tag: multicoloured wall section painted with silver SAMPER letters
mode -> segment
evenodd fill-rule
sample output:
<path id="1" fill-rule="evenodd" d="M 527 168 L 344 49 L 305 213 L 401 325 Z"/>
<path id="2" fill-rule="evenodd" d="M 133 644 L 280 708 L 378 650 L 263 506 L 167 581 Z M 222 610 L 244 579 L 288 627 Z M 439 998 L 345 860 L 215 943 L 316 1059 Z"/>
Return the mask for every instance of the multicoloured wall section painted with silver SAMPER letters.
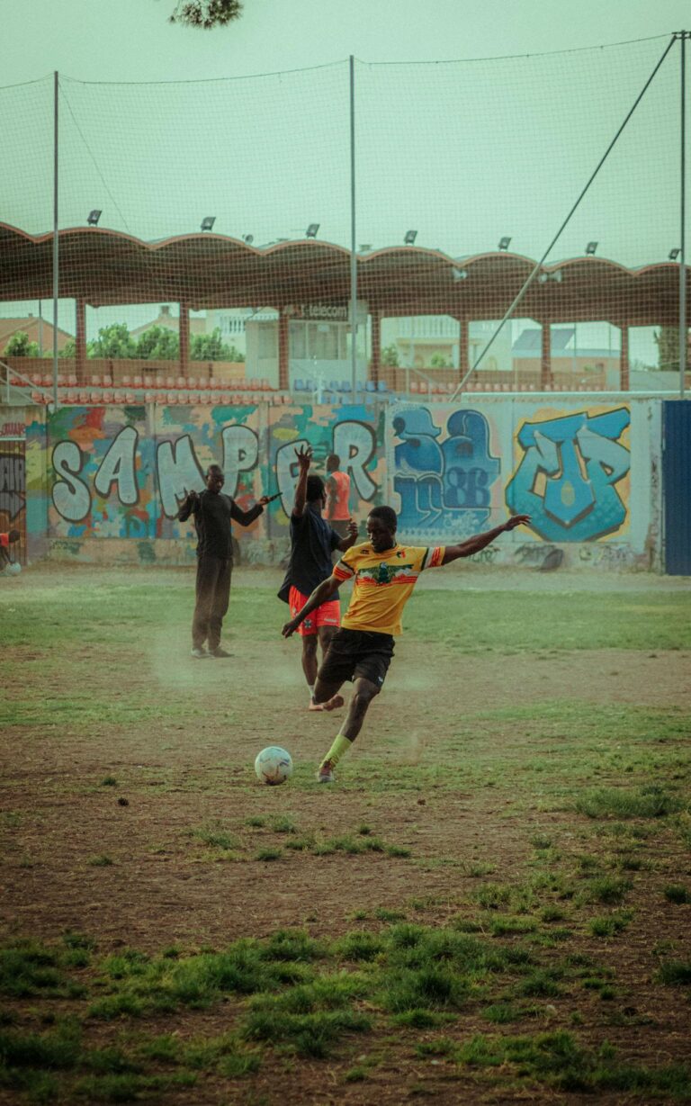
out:
<path id="1" fill-rule="evenodd" d="M 329 453 L 341 457 L 356 517 L 384 486 L 384 417 L 359 405 L 64 407 L 45 427 L 34 424 L 30 438 L 34 470 L 45 473 L 49 547 L 100 561 L 130 560 L 133 540 L 140 561 L 190 560 L 192 525 L 177 512 L 188 491 L 203 488 L 212 462 L 243 509 L 280 493 L 250 528 L 237 528 L 245 561 L 271 562 L 287 550 L 301 445 L 312 447 L 317 473 Z M 40 531 L 38 512 L 36 521 Z"/>

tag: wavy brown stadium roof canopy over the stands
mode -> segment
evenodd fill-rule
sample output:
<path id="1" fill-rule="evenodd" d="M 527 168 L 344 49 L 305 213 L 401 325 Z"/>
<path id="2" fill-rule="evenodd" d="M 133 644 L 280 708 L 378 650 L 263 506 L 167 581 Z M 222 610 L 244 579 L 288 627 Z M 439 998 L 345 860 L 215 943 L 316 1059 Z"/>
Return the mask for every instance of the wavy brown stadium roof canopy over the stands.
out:
<path id="1" fill-rule="evenodd" d="M 59 232 L 60 298 L 93 306 L 179 302 L 192 310 L 347 304 L 350 253 L 314 239 L 254 248 L 213 233 L 145 242 L 100 227 Z M 0 300 L 50 299 L 53 236 L 0 223 Z M 357 254 L 357 295 L 383 315 L 500 319 L 535 262 L 516 253 L 463 259 L 413 246 Z M 540 279 L 542 278 L 542 279 Z M 544 323 L 676 326 L 679 264 L 626 269 L 582 257 L 545 265 L 516 314 Z"/>

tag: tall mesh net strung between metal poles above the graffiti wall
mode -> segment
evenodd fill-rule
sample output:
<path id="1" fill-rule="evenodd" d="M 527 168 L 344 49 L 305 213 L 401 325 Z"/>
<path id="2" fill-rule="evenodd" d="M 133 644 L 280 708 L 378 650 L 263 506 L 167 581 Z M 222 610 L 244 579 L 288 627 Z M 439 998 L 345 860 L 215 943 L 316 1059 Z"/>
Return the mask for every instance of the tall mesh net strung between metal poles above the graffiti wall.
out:
<path id="1" fill-rule="evenodd" d="M 395 392 L 678 372 L 680 46 L 61 76 L 56 149 L 53 77 L 0 88 L 0 357 L 50 353 L 55 323 L 80 383 L 88 361 L 334 393 L 352 366 Z"/>

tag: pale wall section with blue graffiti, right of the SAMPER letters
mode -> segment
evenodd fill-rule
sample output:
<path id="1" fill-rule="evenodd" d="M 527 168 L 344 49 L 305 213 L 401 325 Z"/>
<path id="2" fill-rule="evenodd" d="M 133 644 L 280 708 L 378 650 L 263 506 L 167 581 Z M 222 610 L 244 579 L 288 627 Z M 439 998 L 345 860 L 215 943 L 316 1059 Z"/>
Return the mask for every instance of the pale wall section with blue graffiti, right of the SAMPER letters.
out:
<path id="1" fill-rule="evenodd" d="M 655 400 L 400 405 L 387 432 L 391 504 L 419 541 L 531 515 L 482 561 L 653 567 L 659 417 Z"/>

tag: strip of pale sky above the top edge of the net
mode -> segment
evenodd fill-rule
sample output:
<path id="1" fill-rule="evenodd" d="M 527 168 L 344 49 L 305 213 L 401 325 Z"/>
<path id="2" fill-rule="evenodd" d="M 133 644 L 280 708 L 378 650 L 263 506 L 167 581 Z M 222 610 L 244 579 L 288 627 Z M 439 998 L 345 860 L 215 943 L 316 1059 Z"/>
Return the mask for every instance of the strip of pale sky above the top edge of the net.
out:
<path id="1" fill-rule="evenodd" d="M 179 81 L 362 61 L 494 58 L 689 30 L 687 0 L 244 0 L 226 29 L 171 27 L 174 0 L 0 0 L 0 84 Z"/>

